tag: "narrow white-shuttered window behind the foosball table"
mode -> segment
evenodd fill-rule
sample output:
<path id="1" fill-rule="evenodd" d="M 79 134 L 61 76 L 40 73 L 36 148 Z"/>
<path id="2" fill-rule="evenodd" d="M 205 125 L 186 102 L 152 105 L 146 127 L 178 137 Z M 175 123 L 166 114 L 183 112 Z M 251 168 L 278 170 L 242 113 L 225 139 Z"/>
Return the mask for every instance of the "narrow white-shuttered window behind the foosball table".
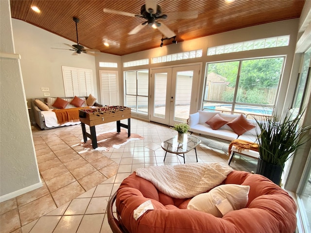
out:
<path id="1" fill-rule="evenodd" d="M 120 105 L 118 71 L 100 70 L 101 97 L 103 105 Z"/>

